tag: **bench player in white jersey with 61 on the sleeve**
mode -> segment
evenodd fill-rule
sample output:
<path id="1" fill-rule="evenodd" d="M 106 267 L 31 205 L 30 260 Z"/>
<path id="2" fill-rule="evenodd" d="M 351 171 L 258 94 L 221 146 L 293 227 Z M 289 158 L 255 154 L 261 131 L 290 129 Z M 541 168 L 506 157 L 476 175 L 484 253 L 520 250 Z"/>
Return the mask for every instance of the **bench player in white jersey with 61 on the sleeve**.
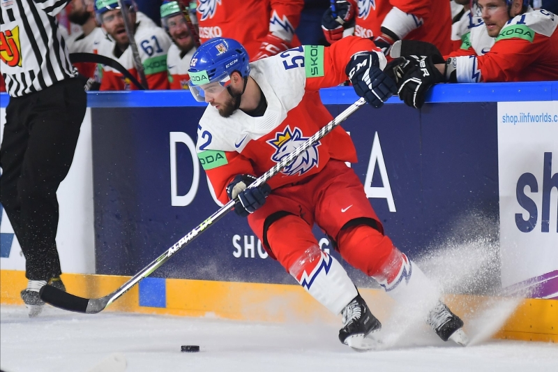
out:
<path id="1" fill-rule="evenodd" d="M 170 40 L 165 30 L 154 26 L 153 22 L 145 22 L 144 20 L 137 22 L 136 6 L 133 1 L 124 0 L 123 3 L 130 10 L 130 25 L 134 29 L 134 38 L 144 68 L 147 88 L 168 89 L 167 51 L 172 44 L 172 40 Z M 118 0 L 96 0 L 95 13 L 99 24 L 114 40 L 114 43 L 107 40 L 99 43 L 98 54 L 116 59 L 132 75 L 138 77 Z M 137 87 L 125 80 L 121 73 L 108 66 L 103 67 L 100 90 L 133 89 L 137 89 Z"/>

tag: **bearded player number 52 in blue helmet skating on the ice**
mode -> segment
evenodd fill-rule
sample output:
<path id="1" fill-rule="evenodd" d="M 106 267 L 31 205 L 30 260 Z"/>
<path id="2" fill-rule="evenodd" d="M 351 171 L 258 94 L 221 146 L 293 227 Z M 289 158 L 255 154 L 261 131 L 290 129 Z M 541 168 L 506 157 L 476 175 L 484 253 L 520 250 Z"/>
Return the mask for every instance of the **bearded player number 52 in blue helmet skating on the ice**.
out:
<path id="1" fill-rule="evenodd" d="M 202 161 L 215 194 L 223 203 L 237 200 L 234 211 L 248 216 L 271 258 L 329 311 L 342 314 L 342 343 L 371 348 L 366 337 L 382 325 L 345 269 L 319 249 L 314 223 L 332 237 L 344 260 L 375 278 L 389 295 L 415 307 L 425 305 L 425 318 L 444 341 L 465 342 L 463 322 L 384 235 L 359 177 L 345 165 L 356 161 L 356 150 L 341 127 L 268 184 L 247 188 L 331 121 L 320 88 L 338 85 L 348 75 L 359 96 L 381 107 L 395 92 L 382 72 L 385 64 L 371 40 L 355 36 L 332 47 L 296 47 L 252 64 L 235 40 L 209 40 L 195 52 L 188 70 L 193 95 L 210 104 L 199 121 L 198 157 L 217 159 Z"/>

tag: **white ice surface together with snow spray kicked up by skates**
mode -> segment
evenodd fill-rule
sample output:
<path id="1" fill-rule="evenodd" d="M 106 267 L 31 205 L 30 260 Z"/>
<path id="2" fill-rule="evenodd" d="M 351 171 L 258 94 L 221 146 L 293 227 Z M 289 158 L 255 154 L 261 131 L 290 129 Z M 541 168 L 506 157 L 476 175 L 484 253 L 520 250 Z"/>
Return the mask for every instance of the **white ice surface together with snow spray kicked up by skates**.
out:
<path id="1" fill-rule="evenodd" d="M 82 315 L 47 307 L 29 319 L 22 306 L 0 306 L 0 368 L 87 372 L 121 353 L 130 372 L 555 371 L 555 343 L 490 338 L 522 299 L 498 297 L 497 231 L 490 228 L 495 223 L 481 217 L 467 216 L 469 224 L 456 223 L 448 237 L 416 260 L 440 293 L 490 297 L 480 306 L 459 304 L 471 340 L 467 348 L 441 341 L 425 325 L 418 306 L 386 311 L 374 301 L 368 305 L 382 321 L 382 345 L 371 352 L 342 345 L 341 320 L 334 323 L 333 318 L 313 324 L 255 323 L 108 311 Z M 201 351 L 181 352 L 181 345 L 199 345 Z"/>

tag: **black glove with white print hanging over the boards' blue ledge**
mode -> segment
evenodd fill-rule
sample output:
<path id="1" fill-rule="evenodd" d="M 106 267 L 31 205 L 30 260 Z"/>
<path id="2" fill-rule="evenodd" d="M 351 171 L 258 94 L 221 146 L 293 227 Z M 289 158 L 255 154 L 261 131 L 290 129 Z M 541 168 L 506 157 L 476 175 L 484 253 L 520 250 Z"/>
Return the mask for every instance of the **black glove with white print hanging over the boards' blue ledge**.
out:
<path id="1" fill-rule="evenodd" d="M 384 71 L 395 80 L 400 100 L 405 101 L 407 106 L 421 108 L 428 89 L 445 81 L 442 73 L 434 66 L 439 63 L 445 61 L 437 55 L 399 57 L 389 62 Z"/>

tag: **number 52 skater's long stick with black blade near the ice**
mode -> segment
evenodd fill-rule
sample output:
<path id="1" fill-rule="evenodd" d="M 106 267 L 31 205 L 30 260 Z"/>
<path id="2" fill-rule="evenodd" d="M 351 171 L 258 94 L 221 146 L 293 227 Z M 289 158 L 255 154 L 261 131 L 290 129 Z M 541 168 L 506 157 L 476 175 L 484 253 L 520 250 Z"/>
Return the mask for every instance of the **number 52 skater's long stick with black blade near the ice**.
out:
<path id="1" fill-rule="evenodd" d="M 314 135 L 312 135 L 312 137 L 308 138 L 308 140 L 306 140 L 303 144 L 294 149 L 292 153 L 285 156 L 282 161 L 280 161 L 275 166 L 273 166 L 273 168 L 262 174 L 262 176 L 258 177 L 254 182 L 252 182 L 252 184 L 250 184 L 249 187 L 254 188 L 269 181 L 271 177 L 278 174 L 278 172 L 280 172 L 283 168 L 290 165 L 293 161 L 296 160 L 299 155 L 310 149 L 310 147 L 312 147 L 312 145 L 314 145 L 320 138 L 331 132 L 333 128 L 338 126 L 342 121 L 345 121 L 347 117 L 349 117 L 353 112 L 358 110 L 359 107 L 364 104 L 364 98 L 360 98 L 359 101 L 356 101 L 355 103 L 347 107 L 345 111 L 341 112 L 337 117 L 326 124 L 326 126 L 321 128 Z M 83 297 L 71 295 L 68 292 L 64 292 L 63 290 L 54 288 L 52 285 L 45 285 L 43 286 L 43 288 L 40 289 L 40 298 L 43 299 L 43 301 L 47 304 L 51 304 L 52 306 L 56 306 L 64 310 L 87 314 L 99 313 L 100 311 L 103 311 L 108 305 L 112 304 L 112 302 L 118 299 L 121 295 L 128 292 L 130 288 L 139 283 L 143 278 L 149 276 L 153 271 L 167 262 L 167 260 L 169 260 L 172 255 L 184 248 L 187 244 L 190 243 L 190 241 L 193 241 L 193 239 L 195 239 L 197 235 L 206 230 L 206 228 L 209 228 L 212 223 L 219 221 L 220 218 L 225 216 L 225 214 L 227 214 L 227 212 L 234 207 L 235 201 L 236 200 L 230 200 L 229 202 L 227 202 L 227 204 L 223 205 L 223 207 L 209 216 L 209 218 L 197 225 L 194 230 L 188 232 L 187 235 L 177 241 L 174 246 L 170 247 L 167 251 L 165 251 L 165 253 L 163 253 L 158 258 L 153 260 L 153 262 L 151 262 L 149 265 L 144 267 L 142 271 L 135 274 L 133 278 L 121 285 L 120 288 L 110 293 L 109 295 L 106 295 L 105 297 L 100 297 L 97 299 L 86 299 Z"/>

